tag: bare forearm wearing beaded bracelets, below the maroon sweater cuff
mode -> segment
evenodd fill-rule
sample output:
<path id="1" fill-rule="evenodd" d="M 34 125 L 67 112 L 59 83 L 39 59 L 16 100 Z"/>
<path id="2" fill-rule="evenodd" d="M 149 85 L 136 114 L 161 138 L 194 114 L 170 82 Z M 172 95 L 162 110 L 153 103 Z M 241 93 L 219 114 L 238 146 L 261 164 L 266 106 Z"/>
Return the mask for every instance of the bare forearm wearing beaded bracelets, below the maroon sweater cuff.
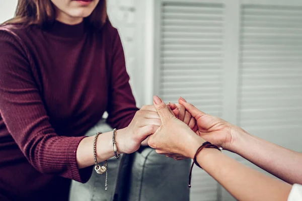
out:
<path id="1" fill-rule="evenodd" d="M 122 143 L 119 141 L 119 135 L 123 135 L 123 132 L 124 129 L 117 130 L 116 132 L 115 140 L 116 140 L 117 147 L 119 147 L 119 145 Z M 78 146 L 77 162 L 80 169 L 95 164 L 94 154 L 93 154 L 94 138 L 95 136 L 84 138 Z M 99 135 L 96 145 L 97 145 L 97 159 L 99 163 L 114 156 L 113 144 L 112 144 L 112 132 L 102 133 L 101 135 Z M 121 154 L 122 152 L 118 151 L 117 153 Z"/>

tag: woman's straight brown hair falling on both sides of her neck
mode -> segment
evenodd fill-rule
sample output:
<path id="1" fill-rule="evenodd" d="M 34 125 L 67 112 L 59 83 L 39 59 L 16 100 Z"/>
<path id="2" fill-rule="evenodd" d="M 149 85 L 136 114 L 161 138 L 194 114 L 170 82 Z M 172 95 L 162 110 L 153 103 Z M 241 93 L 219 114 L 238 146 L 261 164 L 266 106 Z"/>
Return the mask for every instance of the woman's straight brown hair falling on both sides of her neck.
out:
<path id="1" fill-rule="evenodd" d="M 44 26 L 55 20 L 54 5 L 50 0 L 18 0 L 15 17 L 3 25 Z M 101 28 L 107 20 L 106 0 L 100 0 L 92 14 L 85 19 L 95 28 Z"/>

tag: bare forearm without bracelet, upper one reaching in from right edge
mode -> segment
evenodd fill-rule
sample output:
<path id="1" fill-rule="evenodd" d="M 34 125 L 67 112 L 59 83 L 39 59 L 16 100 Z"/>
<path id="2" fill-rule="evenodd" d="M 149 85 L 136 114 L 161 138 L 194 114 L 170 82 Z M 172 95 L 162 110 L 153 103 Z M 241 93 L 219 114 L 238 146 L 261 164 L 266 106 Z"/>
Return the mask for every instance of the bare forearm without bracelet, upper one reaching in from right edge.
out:
<path id="1" fill-rule="evenodd" d="M 232 151 L 290 184 L 302 184 L 302 153 L 239 132 Z"/>

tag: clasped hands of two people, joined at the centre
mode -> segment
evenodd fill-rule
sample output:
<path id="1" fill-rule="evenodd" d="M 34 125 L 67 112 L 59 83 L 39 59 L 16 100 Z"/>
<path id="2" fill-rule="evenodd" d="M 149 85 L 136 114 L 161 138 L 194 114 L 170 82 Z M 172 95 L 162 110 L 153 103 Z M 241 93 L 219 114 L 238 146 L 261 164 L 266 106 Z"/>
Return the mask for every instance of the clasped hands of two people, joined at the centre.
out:
<path id="1" fill-rule="evenodd" d="M 140 145 L 149 145 L 159 154 L 176 160 L 193 158 L 205 141 L 233 151 L 241 128 L 220 118 L 205 114 L 182 97 L 178 104 L 167 104 L 154 96 L 154 106 L 143 106 L 125 128 L 124 153 L 136 151 Z"/>

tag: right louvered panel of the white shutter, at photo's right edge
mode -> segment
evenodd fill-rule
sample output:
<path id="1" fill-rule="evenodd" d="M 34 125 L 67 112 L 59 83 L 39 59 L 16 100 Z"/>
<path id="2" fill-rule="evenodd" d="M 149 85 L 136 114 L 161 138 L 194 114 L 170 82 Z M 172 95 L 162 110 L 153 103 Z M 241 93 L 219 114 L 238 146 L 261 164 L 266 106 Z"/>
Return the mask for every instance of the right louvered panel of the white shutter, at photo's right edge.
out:
<path id="1" fill-rule="evenodd" d="M 237 124 L 302 152 L 302 1 L 243 2 L 238 88 Z M 222 195 L 235 200 L 226 191 Z"/>

